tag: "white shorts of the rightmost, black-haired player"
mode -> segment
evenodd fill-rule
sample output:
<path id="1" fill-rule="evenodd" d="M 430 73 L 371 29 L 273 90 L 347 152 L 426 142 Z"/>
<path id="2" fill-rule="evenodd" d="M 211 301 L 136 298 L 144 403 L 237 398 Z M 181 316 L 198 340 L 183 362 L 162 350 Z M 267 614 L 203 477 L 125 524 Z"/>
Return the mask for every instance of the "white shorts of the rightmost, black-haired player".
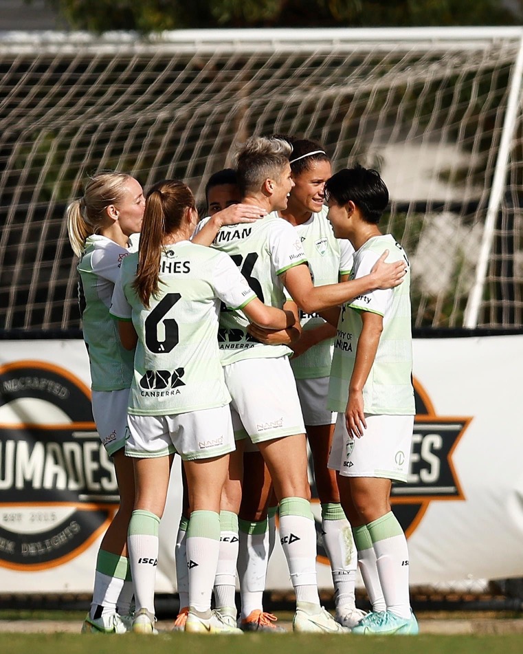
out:
<path id="1" fill-rule="evenodd" d="M 343 477 L 379 477 L 407 481 L 413 415 L 365 414 L 361 438 L 350 438 L 345 414 L 338 413 L 328 467 Z"/>

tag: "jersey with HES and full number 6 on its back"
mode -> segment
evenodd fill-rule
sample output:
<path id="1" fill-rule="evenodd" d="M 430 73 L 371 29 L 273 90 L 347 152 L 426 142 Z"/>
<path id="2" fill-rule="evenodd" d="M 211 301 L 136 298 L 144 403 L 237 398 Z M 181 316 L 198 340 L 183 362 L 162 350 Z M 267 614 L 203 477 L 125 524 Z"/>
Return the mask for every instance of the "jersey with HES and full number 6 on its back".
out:
<path id="1" fill-rule="evenodd" d="M 165 246 L 159 294 L 146 309 L 133 288 L 138 255 L 122 265 L 111 314 L 138 334 L 129 413 L 173 415 L 231 400 L 218 348 L 220 301 L 241 309 L 256 294 L 223 252 L 181 241 Z"/>

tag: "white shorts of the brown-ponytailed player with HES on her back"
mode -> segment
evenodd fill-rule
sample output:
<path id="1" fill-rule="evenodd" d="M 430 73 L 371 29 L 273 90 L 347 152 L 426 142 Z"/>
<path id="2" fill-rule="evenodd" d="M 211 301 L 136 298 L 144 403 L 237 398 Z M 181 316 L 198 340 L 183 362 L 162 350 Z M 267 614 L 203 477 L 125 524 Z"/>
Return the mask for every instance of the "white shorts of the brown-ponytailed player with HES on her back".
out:
<path id="1" fill-rule="evenodd" d="M 125 454 L 153 459 L 178 453 L 184 461 L 221 457 L 234 451 L 228 404 L 172 415 L 129 415 Z"/>

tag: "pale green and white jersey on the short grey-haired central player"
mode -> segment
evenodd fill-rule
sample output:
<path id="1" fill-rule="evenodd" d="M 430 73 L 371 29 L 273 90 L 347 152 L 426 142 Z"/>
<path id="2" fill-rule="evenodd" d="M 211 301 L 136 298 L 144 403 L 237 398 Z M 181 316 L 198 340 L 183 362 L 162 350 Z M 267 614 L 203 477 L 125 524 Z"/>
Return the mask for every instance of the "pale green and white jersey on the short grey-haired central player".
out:
<path id="1" fill-rule="evenodd" d="M 208 221 L 204 219 L 198 232 Z M 278 275 L 300 263 L 307 263 L 300 238 L 276 212 L 243 225 L 222 227 L 212 248 L 227 252 L 241 270 L 249 286 L 269 307 L 281 309 L 286 298 Z M 221 362 L 224 366 L 247 358 L 288 356 L 287 345 L 264 345 L 247 334 L 249 320 L 240 311 L 222 307 L 218 332 Z"/>

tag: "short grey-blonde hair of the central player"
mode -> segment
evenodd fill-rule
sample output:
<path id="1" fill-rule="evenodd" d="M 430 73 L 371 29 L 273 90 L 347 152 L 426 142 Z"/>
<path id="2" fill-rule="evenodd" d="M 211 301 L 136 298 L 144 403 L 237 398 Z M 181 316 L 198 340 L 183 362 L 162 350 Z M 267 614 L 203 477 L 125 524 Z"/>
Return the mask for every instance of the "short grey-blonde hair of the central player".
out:
<path id="1" fill-rule="evenodd" d="M 248 138 L 235 157 L 240 193 L 257 193 L 265 179 L 278 178 L 282 168 L 289 163 L 291 152 L 291 144 L 281 138 Z"/>

